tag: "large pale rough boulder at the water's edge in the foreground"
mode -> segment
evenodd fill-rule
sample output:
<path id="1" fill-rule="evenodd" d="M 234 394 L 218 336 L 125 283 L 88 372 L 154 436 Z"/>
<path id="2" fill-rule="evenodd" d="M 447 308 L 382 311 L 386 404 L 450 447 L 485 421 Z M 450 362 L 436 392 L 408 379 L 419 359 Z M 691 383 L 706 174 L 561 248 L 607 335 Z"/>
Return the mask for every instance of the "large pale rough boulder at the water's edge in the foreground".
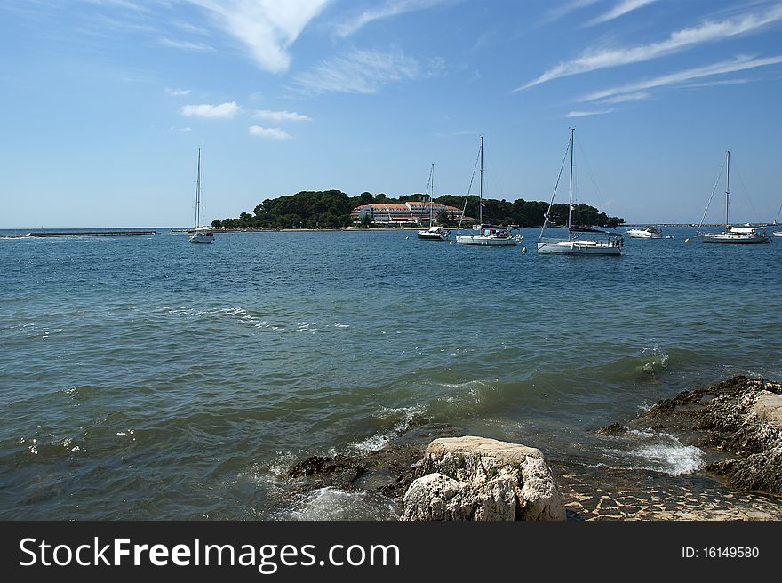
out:
<path id="1" fill-rule="evenodd" d="M 564 520 L 562 494 L 543 453 L 484 437 L 429 443 L 402 520 Z"/>

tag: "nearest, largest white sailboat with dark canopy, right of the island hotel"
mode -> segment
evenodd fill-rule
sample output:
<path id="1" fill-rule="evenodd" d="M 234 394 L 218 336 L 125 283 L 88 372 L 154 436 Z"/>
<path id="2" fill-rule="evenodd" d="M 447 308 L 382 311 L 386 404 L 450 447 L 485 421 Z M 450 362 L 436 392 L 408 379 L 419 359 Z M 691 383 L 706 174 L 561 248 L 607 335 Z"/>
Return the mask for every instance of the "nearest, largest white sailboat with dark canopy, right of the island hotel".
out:
<path id="1" fill-rule="evenodd" d="M 567 239 L 553 239 L 544 238 L 548 225 L 548 218 L 551 215 L 551 207 L 554 204 L 554 197 L 556 195 L 556 187 L 554 188 L 554 194 L 551 196 L 551 202 L 548 204 L 548 210 L 546 212 L 546 218 L 543 220 L 543 228 L 540 229 L 540 236 L 538 238 L 538 252 L 539 253 L 554 253 L 558 255 L 621 255 L 622 254 L 622 235 L 621 233 L 613 233 L 611 231 L 603 231 L 598 228 L 579 227 L 573 225 L 573 147 L 574 139 L 576 135 L 575 128 L 571 128 L 571 139 L 568 141 L 568 150 L 565 151 L 567 156 L 568 151 L 571 154 L 571 189 L 570 200 L 568 202 L 568 238 Z M 563 165 L 565 160 L 563 159 Z M 562 176 L 562 169 L 560 169 L 560 176 Z M 557 178 L 557 186 L 559 186 L 559 179 Z M 597 238 L 587 238 L 589 235 L 598 235 Z M 586 236 L 585 236 L 586 235 Z"/>

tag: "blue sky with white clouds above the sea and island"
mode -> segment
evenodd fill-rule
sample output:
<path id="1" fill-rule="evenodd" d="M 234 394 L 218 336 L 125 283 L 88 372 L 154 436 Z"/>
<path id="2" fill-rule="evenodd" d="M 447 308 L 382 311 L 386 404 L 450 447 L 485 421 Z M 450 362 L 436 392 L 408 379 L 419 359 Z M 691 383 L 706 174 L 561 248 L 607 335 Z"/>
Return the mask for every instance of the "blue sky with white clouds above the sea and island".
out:
<path id="1" fill-rule="evenodd" d="M 175 227 L 339 188 L 698 222 L 782 204 L 782 2 L 4 0 L 0 228 Z M 724 173 L 706 221 L 722 220 Z M 475 192 L 475 187 L 473 188 Z M 567 193 L 557 194 L 557 200 Z"/>

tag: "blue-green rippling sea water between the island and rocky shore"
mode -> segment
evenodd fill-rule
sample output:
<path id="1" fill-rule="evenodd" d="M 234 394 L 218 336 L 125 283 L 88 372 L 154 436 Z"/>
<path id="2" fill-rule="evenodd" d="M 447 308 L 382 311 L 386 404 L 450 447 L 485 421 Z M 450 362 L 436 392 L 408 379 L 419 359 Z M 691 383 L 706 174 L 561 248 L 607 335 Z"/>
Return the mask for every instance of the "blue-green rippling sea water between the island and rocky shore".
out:
<path id="1" fill-rule="evenodd" d="M 289 496 L 287 471 L 423 423 L 571 473 L 702 481 L 708 452 L 678 435 L 595 429 L 736 374 L 782 380 L 782 239 L 675 227 L 558 257 L 538 229 L 505 248 L 151 230 L 0 238 L 0 519 L 395 520 L 360 491 Z"/>

